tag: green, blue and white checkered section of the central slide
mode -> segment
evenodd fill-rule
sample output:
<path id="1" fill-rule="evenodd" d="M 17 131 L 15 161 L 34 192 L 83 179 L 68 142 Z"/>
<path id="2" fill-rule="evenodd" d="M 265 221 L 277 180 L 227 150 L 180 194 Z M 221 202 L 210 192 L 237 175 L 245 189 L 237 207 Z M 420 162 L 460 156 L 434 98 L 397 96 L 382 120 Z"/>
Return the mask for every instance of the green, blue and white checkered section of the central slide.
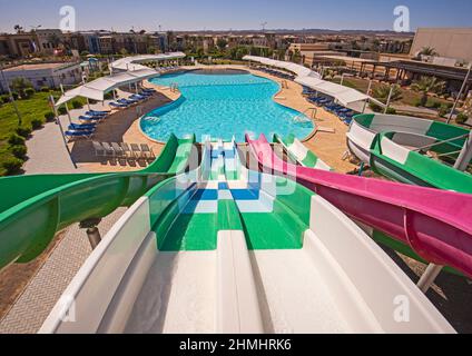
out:
<path id="1" fill-rule="evenodd" d="M 246 169 L 236 146 L 222 145 L 203 159 L 200 174 L 209 180 L 195 177 L 179 188 L 175 177 L 146 195 L 159 250 L 215 250 L 223 230 L 243 230 L 249 250 L 302 248 L 314 194 L 289 179 Z"/>

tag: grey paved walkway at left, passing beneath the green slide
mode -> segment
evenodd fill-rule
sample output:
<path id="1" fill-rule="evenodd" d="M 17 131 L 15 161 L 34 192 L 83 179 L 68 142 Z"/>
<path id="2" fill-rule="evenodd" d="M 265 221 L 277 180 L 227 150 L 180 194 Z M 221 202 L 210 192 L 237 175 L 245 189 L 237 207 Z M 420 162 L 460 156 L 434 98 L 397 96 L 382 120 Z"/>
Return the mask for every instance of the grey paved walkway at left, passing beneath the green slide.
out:
<path id="1" fill-rule="evenodd" d="M 101 103 L 92 105 L 95 110 L 108 109 Z M 79 110 L 71 110 L 72 118 L 85 113 L 87 106 Z M 62 129 L 69 126 L 69 117 L 61 116 Z M 76 168 L 63 141 L 61 129 L 57 122 L 48 122 L 40 130 L 33 131 L 27 141 L 28 161 L 23 166 L 27 175 L 37 174 L 77 174 L 86 172 L 83 168 Z M 99 225 L 102 236 L 126 211 L 119 208 Z M 0 334 L 31 334 L 37 333 L 50 310 L 70 284 L 83 261 L 91 253 L 85 230 L 75 224 L 65 230 L 65 237 L 52 250 L 51 255 L 29 281 L 12 308 L 0 320 Z"/>

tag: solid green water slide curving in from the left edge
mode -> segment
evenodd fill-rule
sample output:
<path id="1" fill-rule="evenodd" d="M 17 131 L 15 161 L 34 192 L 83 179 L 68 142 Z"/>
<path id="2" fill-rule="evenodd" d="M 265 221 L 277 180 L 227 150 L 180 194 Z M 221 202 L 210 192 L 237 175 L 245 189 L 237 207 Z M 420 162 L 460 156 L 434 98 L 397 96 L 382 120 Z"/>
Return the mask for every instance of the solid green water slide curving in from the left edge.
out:
<path id="1" fill-rule="evenodd" d="M 146 169 L 119 174 L 33 175 L 0 179 L 0 268 L 28 263 L 57 231 L 129 207 L 188 166 L 195 136 L 170 136 Z"/>

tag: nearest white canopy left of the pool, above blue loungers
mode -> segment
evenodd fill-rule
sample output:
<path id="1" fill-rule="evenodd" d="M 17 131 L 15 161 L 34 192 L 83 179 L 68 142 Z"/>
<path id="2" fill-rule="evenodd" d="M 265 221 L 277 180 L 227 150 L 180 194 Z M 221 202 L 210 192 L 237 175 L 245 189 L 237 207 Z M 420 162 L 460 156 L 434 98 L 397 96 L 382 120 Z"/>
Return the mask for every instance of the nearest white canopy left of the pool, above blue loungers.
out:
<path id="1" fill-rule="evenodd" d="M 127 86 L 134 82 L 142 81 L 145 79 L 156 77 L 159 73 L 153 69 L 145 67 L 146 69 L 127 71 L 122 73 L 117 73 L 114 76 L 98 78 L 94 81 L 85 83 L 78 88 L 66 91 L 63 96 L 56 102 L 56 107 L 61 106 L 62 103 L 72 100 L 77 97 L 89 98 L 97 101 L 102 101 L 107 92 L 119 88 L 121 86 Z"/>

